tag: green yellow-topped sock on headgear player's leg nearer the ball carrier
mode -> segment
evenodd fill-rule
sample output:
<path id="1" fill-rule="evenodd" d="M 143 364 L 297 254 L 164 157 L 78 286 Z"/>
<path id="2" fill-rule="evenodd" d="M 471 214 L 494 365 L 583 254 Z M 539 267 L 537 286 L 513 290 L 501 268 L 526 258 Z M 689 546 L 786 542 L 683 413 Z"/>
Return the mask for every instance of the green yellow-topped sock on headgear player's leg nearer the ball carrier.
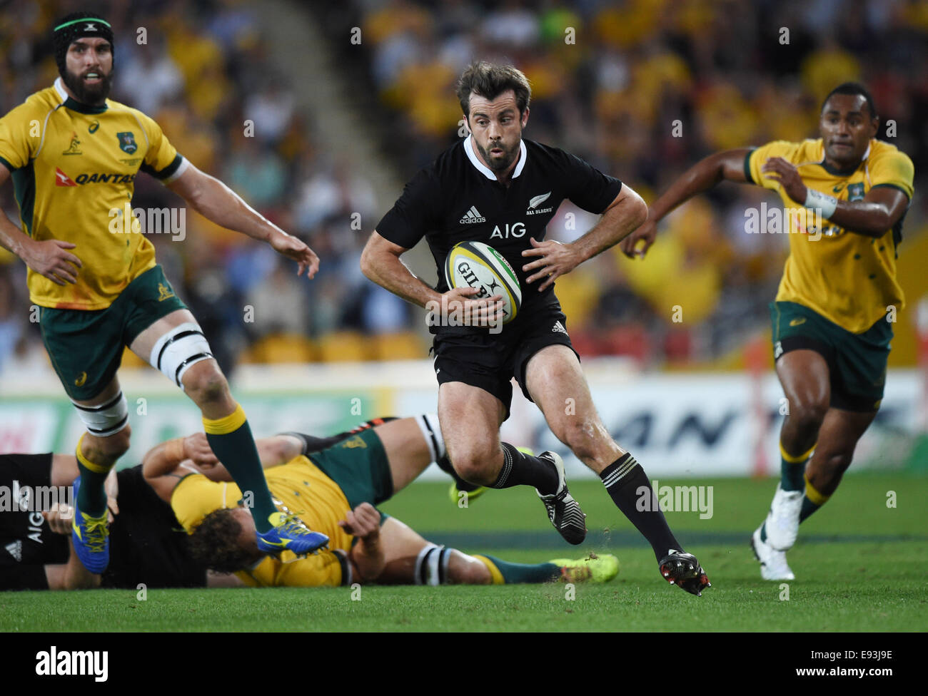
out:
<path id="1" fill-rule="evenodd" d="M 251 427 L 245 420 L 245 411 L 238 406 L 238 409 L 226 418 L 214 421 L 204 418 L 203 426 L 213 453 L 235 479 L 242 495 L 251 493 L 251 516 L 254 518 L 254 526 L 259 532 L 266 532 L 271 528 L 267 518 L 277 513 L 277 508 L 271 500 L 271 492 L 267 489 L 264 469 L 261 467 L 254 438 L 251 437 Z"/>

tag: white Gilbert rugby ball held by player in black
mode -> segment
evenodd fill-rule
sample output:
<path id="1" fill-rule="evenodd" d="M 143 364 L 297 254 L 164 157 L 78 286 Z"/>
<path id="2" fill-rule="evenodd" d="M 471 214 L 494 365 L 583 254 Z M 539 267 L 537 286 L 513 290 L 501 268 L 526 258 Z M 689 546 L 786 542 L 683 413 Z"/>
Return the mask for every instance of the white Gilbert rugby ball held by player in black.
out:
<path id="1" fill-rule="evenodd" d="M 476 287 L 471 299 L 503 297 L 503 323 L 515 319 L 522 306 L 522 287 L 509 261 L 483 242 L 460 242 L 445 259 L 445 283 L 449 288 Z"/>

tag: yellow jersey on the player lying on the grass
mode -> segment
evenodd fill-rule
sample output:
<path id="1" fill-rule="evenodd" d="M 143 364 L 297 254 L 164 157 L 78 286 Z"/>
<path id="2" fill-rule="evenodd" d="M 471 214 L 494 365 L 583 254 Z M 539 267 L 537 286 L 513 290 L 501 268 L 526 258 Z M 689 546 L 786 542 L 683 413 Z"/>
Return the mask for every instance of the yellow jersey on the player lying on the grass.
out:
<path id="1" fill-rule="evenodd" d="M 354 538 L 338 525 L 351 509 L 342 488 L 303 455 L 266 469 L 264 475 L 277 507 L 297 514 L 314 532 L 328 535 L 329 550 L 299 561 L 293 560 L 293 553 L 284 551 L 279 560 L 268 556 L 251 570 L 236 575 L 251 587 L 341 585 L 343 556 L 333 551 L 340 549 L 347 553 Z M 236 508 L 239 500 L 241 490 L 235 483 L 211 481 L 204 475 L 193 474 L 174 488 L 171 507 L 189 534 L 206 515 L 222 508 Z"/>

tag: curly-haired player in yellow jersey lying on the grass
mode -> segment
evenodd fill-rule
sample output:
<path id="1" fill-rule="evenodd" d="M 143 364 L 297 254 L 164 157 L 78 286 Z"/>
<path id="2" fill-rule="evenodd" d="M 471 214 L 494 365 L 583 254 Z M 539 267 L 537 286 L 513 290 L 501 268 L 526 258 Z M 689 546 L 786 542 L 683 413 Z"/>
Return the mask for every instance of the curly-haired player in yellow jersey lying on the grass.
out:
<path id="1" fill-rule="evenodd" d="M 501 584 L 558 577 L 604 582 L 618 573 L 618 559 L 608 554 L 532 564 L 470 556 L 436 546 L 399 520 L 381 516 L 374 505 L 390 499 L 430 462 L 445 456 L 435 415 L 394 419 L 342 437 L 317 451 L 324 440 L 296 433 L 258 440 L 277 504 L 331 539 L 330 550 L 300 560 L 290 551 L 279 558 L 264 558 L 254 543 L 251 515 L 241 507 L 241 491 L 226 483 L 229 476 L 202 434 L 151 449 L 142 471 L 192 534 L 193 557 L 213 570 L 237 572 L 252 587 L 366 581 Z"/>

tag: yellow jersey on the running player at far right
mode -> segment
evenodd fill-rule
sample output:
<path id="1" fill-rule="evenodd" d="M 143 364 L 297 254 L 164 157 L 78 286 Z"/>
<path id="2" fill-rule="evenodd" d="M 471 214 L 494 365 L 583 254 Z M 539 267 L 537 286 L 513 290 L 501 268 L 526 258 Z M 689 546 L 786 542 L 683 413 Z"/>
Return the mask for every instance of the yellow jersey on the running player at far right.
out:
<path id="1" fill-rule="evenodd" d="M 786 209 L 804 210 L 780 183 L 761 173 L 767 158 L 774 157 L 793 164 L 809 188 L 839 200 L 861 200 L 876 186 L 892 186 L 909 196 L 909 201 L 912 198 L 912 160 L 896 146 L 880 140 L 870 141 L 854 171 L 834 171 L 826 165 L 821 138 L 802 143 L 774 141 L 752 150 L 744 159 L 748 181 L 777 191 Z M 808 234 L 802 217 L 786 217 L 790 256 L 777 300 L 804 305 L 854 334 L 862 334 L 882 319 L 888 306 L 905 306 L 902 287 L 896 280 L 902 220 L 878 239 L 823 221 L 821 235 L 816 239 L 817 234 Z"/>

